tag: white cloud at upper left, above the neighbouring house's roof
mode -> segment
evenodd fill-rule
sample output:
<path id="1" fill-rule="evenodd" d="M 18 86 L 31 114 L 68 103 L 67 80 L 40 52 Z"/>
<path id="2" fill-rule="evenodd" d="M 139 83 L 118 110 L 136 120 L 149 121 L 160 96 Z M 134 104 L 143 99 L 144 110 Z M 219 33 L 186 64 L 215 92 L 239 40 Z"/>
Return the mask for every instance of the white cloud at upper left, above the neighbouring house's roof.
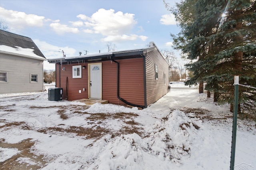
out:
<path id="1" fill-rule="evenodd" d="M 25 27 L 42 27 L 46 21 L 43 16 L 6 10 L 2 7 L 0 7 L 0 14 L 1 18 L 4 18 L 5 22 L 8 23 L 10 27 L 16 27 L 18 29 Z"/>

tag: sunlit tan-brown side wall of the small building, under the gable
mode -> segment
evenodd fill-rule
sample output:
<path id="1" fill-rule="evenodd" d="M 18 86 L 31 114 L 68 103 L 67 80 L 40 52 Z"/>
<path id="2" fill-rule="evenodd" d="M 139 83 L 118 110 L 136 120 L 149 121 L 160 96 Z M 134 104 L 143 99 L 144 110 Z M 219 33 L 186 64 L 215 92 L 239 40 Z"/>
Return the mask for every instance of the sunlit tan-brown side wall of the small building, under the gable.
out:
<path id="1" fill-rule="evenodd" d="M 155 78 L 155 64 L 158 66 L 158 80 Z M 166 85 L 164 85 L 164 73 L 166 74 Z M 150 105 L 168 92 L 168 63 L 154 49 L 146 54 L 146 93 L 147 105 Z"/>

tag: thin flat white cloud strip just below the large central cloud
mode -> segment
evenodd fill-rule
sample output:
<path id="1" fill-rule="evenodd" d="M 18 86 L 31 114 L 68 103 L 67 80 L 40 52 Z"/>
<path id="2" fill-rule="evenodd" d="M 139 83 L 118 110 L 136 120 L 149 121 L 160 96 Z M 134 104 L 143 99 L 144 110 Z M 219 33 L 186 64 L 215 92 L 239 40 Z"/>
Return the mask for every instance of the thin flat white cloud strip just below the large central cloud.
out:
<path id="1" fill-rule="evenodd" d="M 109 35 L 102 39 L 103 42 L 111 42 L 111 41 L 133 41 L 140 38 L 142 41 L 146 41 L 148 37 L 139 36 L 139 35 Z"/>

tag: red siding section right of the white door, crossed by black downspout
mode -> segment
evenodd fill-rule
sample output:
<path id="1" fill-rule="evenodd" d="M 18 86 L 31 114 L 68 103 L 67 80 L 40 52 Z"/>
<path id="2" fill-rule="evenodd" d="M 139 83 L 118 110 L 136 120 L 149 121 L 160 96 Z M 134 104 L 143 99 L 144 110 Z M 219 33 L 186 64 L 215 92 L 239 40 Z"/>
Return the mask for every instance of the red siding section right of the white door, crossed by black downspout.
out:
<path id="1" fill-rule="evenodd" d="M 144 106 L 143 61 L 116 60 L 119 63 L 119 96 L 136 105 Z M 117 98 L 117 64 L 102 62 L 102 99 L 113 104 L 125 104 Z"/>

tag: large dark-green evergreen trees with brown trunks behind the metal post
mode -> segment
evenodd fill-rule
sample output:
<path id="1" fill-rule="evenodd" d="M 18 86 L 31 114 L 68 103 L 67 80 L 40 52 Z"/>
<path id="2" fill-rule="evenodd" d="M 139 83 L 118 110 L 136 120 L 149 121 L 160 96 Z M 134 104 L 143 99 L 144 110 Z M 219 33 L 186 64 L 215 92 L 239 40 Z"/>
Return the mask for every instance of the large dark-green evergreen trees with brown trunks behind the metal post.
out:
<path id="1" fill-rule="evenodd" d="M 256 87 L 256 1 L 182 0 L 170 8 L 178 26 L 171 34 L 174 48 L 187 60 L 193 73 L 186 85 L 200 84 L 214 102 L 234 104 L 234 76 L 240 84 Z M 256 90 L 239 86 L 238 113 L 256 115 Z M 255 118 L 255 117 L 254 117 Z"/>

